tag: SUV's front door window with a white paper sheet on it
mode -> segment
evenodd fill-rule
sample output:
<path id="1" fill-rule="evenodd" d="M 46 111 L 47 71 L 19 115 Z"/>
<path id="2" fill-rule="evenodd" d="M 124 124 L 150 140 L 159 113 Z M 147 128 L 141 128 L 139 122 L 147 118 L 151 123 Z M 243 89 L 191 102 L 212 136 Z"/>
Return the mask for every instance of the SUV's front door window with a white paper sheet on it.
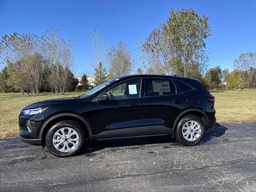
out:
<path id="1" fill-rule="evenodd" d="M 105 93 L 108 94 L 110 100 L 121 100 L 140 97 L 141 79 L 127 80 Z"/>

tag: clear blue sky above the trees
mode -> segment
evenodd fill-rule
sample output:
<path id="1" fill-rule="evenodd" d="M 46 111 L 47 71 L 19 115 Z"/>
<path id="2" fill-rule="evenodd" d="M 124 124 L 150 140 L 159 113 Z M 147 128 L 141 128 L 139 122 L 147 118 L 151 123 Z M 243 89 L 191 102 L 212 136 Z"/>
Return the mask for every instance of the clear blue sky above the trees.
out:
<path id="1" fill-rule="evenodd" d="M 210 65 L 232 70 L 243 52 L 256 52 L 256 1 L 82 1 L 0 0 L 0 35 L 34 33 L 60 26 L 63 38 L 76 44 L 75 74 L 92 74 L 88 34 L 95 28 L 108 45 L 125 42 L 132 52 L 160 23 L 170 8 L 193 8 L 209 17 L 211 32 L 206 43 Z"/>

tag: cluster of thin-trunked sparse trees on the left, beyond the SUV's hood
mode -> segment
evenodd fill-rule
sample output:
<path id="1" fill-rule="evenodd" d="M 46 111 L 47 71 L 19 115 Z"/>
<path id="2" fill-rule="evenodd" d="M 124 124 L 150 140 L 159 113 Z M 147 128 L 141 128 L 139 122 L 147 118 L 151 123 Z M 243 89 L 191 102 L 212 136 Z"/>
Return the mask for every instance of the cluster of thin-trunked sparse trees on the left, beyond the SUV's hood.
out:
<path id="1" fill-rule="evenodd" d="M 60 30 L 35 34 L 4 35 L 0 42 L 2 63 L 1 91 L 19 90 L 22 94 L 51 92 L 64 94 L 74 83 L 74 44 L 64 40 Z"/>

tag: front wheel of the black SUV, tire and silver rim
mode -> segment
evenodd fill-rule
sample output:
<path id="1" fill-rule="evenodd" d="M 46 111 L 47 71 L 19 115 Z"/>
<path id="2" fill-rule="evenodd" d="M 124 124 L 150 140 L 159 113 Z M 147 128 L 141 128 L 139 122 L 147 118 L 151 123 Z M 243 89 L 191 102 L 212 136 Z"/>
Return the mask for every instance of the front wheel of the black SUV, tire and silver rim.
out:
<path id="1" fill-rule="evenodd" d="M 84 130 L 76 121 L 60 121 L 48 130 L 45 141 L 46 147 L 54 156 L 74 156 L 83 146 Z"/>

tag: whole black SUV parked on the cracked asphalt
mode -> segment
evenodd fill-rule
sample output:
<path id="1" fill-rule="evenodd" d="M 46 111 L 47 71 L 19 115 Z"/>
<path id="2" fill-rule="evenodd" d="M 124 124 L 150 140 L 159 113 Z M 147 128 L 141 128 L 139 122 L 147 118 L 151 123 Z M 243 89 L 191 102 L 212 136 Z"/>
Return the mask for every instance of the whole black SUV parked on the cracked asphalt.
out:
<path id="1" fill-rule="evenodd" d="M 22 109 L 20 138 L 73 156 L 85 139 L 170 135 L 198 144 L 216 123 L 214 96 L 198 80 L 132 75 L 112 79 L 82 96 L 37 102 Z"/>

